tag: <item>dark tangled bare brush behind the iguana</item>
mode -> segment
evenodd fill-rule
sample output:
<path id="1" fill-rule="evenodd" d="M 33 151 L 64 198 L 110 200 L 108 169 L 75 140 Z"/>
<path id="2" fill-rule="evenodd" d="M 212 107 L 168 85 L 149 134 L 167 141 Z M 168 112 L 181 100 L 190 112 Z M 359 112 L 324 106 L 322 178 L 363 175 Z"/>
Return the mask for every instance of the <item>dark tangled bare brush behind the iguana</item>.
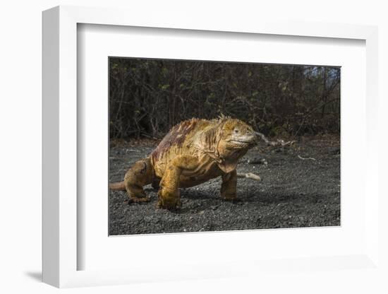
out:
<path id="1" fill-rule="evenodd" d="M 340 69 L 109 58 L 111 139 L 159 139 L 184 119 L 221 114 L 267 136 L 339 134 Z"/>

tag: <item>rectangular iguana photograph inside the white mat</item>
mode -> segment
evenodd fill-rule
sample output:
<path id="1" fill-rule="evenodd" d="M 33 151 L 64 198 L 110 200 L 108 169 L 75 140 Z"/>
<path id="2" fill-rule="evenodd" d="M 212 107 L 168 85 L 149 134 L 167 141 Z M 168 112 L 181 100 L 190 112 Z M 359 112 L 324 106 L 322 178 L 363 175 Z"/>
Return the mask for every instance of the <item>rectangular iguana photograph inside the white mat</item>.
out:
<path id="1" fill-rule="evenodd" d="M 340 225 L 340 77 L 109 57 L 109 235 Z"/>

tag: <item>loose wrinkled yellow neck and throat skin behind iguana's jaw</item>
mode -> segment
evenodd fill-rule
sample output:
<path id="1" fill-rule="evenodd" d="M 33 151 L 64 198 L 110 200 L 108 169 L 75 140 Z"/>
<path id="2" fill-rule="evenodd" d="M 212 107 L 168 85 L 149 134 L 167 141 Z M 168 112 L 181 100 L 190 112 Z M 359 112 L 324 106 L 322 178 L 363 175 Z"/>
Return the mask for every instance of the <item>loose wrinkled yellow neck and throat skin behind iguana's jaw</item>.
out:
<path id="1" fill-rule="evenodd" d="M 219 168 L 226 173 L 236 169 L 238 159 L 248 151 L 247 148 L 227 148 L 222 138 L 222 125 L 212 127 L 202 132 L 197 146 L 201 153 L 210 156 Z"/>

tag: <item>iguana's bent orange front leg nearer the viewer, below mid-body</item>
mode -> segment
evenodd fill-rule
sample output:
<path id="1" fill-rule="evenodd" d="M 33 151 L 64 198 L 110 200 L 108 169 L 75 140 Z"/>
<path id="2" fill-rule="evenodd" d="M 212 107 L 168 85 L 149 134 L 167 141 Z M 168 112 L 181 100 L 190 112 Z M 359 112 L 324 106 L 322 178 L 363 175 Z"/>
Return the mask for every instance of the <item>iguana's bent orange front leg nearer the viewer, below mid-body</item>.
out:
<path id="1" fill-rule="evenodd" d="M 183 170 L 194 170 L 197 165 L 198 159 L 188 155 L 180 155 L 171 160 L 169 165 L 166 166 L 166 170 L 160 181 L 157 208 L 181 208 L 179 178 Z"/>

